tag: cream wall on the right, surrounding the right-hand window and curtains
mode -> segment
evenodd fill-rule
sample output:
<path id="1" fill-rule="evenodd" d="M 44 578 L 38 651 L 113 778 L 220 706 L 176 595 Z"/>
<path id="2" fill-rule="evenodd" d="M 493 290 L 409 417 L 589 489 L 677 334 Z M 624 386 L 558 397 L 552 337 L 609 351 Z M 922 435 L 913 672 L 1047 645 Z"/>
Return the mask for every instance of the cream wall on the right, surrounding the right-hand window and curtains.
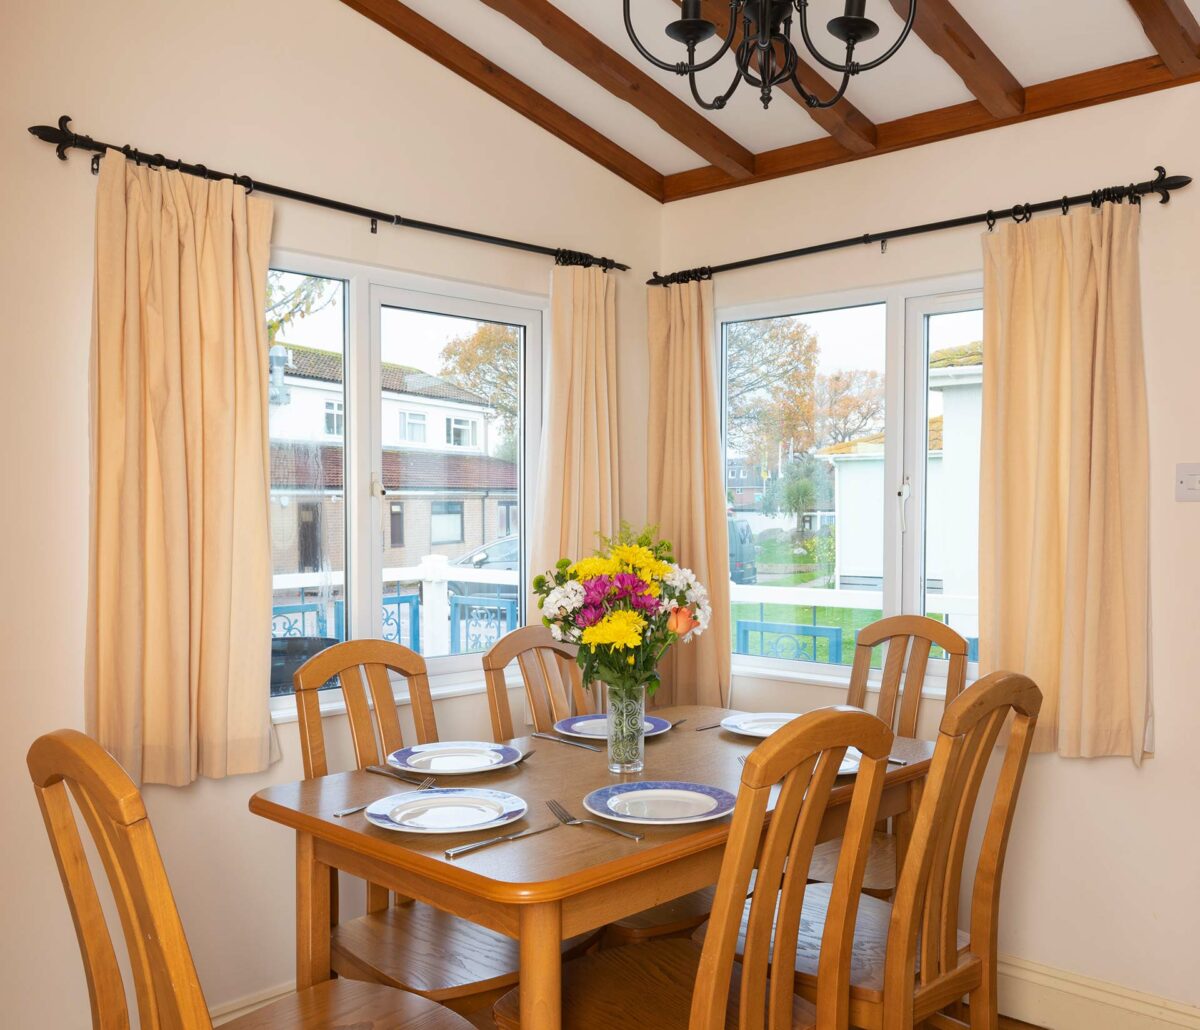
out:
<path id="1" fill-rule="evenodd" d="M 733 261 L 1085 192 L 1152 178 L 1156 164 L 1200 179 L 1196 126 L 1200 86 L 1192 85 L 670 204 L 661 267 Z M 1200 505 L 1175 502 L 1172 473 L 1176 462 L 1200 461 L 1198 239 L 1200 185 L 1176 194 L 1169 208 L 1146 205 L 1141 253 L 1157 755 L 1141 769 L 1116 759 L 1031 761 L 1001 923 L 1001 950 L 1008 956 L 1193 1006 L 1200 1005 L 1200 691 L 1187 647 L 1200 613 Z M 721 275 L 716 304 L 979 268 L 979 230 L 967 228 L 894 241 L 886 254 L 877 246 L 856 247 Z M 734 703 L 756 708 L 804 711 L 839 696 L 769 679 L 736 676 L 734 683 Z M 1036 1013 L 1014 1014 L 1032 1019 Z M 1178 1025 L 1200 1025 L 1200 1012 L 1189 1018 Z"/>

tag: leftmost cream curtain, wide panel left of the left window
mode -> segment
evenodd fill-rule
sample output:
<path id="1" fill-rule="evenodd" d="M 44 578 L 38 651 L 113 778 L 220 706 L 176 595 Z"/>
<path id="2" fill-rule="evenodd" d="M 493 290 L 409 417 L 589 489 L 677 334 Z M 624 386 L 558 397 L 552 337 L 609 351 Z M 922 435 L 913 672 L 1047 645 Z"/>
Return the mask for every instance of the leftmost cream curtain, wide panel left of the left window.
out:
<path id="1" fill-rule="evenodd" d="M 88 729 L 140 782 L 272 756 L 270 233 L 228 181 L 101 166 Z"/>

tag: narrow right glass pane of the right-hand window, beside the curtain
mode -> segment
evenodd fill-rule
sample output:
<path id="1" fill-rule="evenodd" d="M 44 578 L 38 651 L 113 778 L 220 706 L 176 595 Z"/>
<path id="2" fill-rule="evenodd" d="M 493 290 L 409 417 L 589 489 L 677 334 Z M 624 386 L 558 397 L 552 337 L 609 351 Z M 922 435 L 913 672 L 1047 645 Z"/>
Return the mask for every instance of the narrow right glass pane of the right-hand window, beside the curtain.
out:
<path id="1" fill-rule="evenodd" d="M 983 311 L 925 316 L 925 612 L 961 633 L 977 660 Z"/>

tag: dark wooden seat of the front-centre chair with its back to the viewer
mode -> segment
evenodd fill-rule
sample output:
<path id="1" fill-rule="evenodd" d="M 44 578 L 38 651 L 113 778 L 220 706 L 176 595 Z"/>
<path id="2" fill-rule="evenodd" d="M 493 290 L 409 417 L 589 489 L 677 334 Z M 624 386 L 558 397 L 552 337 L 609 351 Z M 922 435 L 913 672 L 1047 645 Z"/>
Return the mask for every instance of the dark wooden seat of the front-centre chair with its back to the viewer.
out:
<path id="1" fill-rule="evenodd" d="M 611 1030 L 653 1026 L 688 1030 L 691 992 L 700 966 L 700 947 L 678 938 L 611 948 L 563 966 L 563 1030 Z M 738 1026 L 740 966 L 733 966 L 727 1030 Z M 521 1026 L 521 992 L 510 990 L 492 1010 L 498 1026 Z M 796 1030 L 814 1030 L 816 1011 L 802 998 L 792 1007 Z"/>

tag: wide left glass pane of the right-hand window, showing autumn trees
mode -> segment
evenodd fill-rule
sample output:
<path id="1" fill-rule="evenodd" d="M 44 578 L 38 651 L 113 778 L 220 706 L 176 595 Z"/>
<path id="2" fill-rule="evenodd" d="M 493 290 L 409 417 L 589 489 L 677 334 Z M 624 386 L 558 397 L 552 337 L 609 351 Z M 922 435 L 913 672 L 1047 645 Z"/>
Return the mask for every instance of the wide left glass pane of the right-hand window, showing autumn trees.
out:
<path id="1" fill-rule="evenodd" d="M 887 306 L 724 328 L 733 649 L 850 665 L 883 605 Z"/>

